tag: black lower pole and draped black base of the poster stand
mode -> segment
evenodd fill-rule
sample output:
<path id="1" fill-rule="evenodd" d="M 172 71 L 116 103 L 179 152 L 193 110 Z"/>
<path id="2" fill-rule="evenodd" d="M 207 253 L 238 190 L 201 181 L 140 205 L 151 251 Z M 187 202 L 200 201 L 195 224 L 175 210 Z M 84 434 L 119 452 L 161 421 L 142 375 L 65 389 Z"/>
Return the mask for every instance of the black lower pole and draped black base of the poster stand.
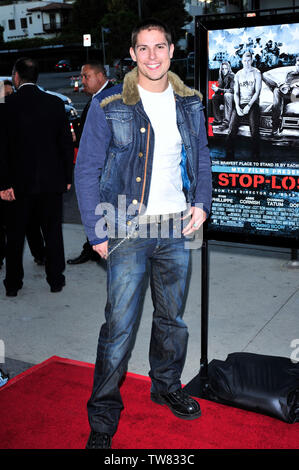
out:
<path id="1" fill-rule="evenodd" d="M 208 363 L 209 249 L 202 244 L 201 357 L 198 374 L 184 387 L 191 396 L 299 422 L 299 363 L 290 358 L 231 353 Z"/>

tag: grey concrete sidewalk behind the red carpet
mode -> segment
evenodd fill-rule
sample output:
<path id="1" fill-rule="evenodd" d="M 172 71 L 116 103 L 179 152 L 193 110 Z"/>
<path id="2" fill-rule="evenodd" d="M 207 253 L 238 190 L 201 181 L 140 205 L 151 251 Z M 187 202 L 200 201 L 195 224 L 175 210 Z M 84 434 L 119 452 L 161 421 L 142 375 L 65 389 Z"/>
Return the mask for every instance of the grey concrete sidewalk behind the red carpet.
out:
<path id="1" fill-rule="evenodd" d="M 64 224 L 63 229 L 66 259 L 75 257 L 85 241 L 83 228 Z M 209 252 L 209 360 L 224 360 L 235 351 L 290 357 L 299 347 L 299 270 L 289 267 L 290 250 L 211 241 Z M 13 376 L 53 355 L 94 363 L 104 321 L 105 269 L 95 262 L 67 265 L 66 287 L 55 294 L 27 246 L 24 270 L 24 286 L 15 298 L 5 296 L 5 269 L 0 270 L 0 340 L 6 358 L 0 367 Z M 201 252 L 192 250 L 183 383 L 197 375 L 200 364 L 200 277 Z M 151 316 L 148 289 L 130 372 L 148 373 Z"/>

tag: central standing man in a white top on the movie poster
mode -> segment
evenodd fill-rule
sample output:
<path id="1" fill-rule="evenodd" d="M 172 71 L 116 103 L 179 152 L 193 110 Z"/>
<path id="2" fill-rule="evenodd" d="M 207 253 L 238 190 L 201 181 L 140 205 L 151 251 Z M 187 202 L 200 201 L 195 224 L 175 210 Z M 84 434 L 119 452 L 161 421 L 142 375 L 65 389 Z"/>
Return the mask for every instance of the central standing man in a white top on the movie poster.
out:
<path id="1" fill-rule="evenodd" d="M 259 160 L 260 143 L 260 107 L 259 96 L 262 88 L 261 72 L 252 66 L 252 54 L 246 51 L 242 57 L 243 68 L 235 75 L 234 104 L 229 132 L 226 140 L 226 158 L 234 159 L 235 138 L 239 126 L 244 120 L 249 121 L 251 133 L 252 160 Z"/>

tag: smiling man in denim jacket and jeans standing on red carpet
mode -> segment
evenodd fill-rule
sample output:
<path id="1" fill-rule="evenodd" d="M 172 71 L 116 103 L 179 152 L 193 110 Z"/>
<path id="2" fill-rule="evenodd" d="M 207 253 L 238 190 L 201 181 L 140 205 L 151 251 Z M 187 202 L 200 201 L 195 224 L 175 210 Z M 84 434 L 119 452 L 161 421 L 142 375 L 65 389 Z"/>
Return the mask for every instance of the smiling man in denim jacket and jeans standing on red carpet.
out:
<path id="1" fill-rule="evenodd" d="M 173 51 L 160 21 L 136 27 L 130 54 L 137 68 L 125 76 L 121 93 L 92 103 L 81 137 L 75 168 L 79 208 L 93 249 L 107 259 L 108 295 L 88 401 L 88 449 L 110 448 L 117 430 L 123 409 L 119 383 L 149 265 L 151 399 L 179 418 L 200 416 L 198 402 L 181 386 L 188 342 L 182 317 L 190 260 L 186 237 L 209 214 L 211 162 L 200 93 L 169 71 Z"/>

